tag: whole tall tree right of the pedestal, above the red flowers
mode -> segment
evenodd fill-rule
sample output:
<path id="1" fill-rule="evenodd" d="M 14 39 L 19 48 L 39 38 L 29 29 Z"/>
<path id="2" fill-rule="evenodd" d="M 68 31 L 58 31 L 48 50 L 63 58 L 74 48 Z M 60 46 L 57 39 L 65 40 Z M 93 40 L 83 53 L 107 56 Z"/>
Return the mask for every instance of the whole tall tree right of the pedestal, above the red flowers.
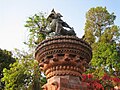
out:
<path id="1" fill-rule="evenodd" d="M 119 47 L 120 28 L 114 25 L 116 16 L 106 7 L 91 8 L 86 13 L 85 35 L 93 50 L 88 72 L 102 76 L 105 72 L 114 75 L 120 69 Z"/>

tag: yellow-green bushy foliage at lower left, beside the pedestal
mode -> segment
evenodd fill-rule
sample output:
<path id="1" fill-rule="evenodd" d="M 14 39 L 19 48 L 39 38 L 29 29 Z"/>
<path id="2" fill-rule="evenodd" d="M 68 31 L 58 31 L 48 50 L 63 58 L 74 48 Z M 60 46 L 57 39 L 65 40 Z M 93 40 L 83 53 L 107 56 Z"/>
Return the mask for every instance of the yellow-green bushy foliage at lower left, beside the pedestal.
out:
<path id="1" fill-rule="evenodd" d="M 37 61 L 32 54 L 19 50 L 16 53 L 16 62 L 10 65 L 10 69 L 3 70 L 5 90 L 39 90 L 44 78 L 41 78 Z"/>

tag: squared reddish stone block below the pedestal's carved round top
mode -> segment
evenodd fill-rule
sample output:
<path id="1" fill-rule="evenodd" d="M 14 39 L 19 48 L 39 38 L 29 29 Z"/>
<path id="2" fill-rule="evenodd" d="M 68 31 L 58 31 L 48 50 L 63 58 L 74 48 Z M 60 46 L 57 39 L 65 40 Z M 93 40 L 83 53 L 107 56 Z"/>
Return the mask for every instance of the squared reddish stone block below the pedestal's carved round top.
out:
<path id="1" fill-rule="evenodd" d="M 54 76 L 48 79 L 43 90 L 87 90 L 86 83 L 75 76 Z"/>

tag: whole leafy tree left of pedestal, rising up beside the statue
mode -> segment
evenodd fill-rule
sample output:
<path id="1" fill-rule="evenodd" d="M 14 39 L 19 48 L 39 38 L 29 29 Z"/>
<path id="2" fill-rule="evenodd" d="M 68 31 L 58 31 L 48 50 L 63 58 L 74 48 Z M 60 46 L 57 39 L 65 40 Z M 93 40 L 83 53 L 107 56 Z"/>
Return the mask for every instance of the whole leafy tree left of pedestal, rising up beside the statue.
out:
<path id="1" fill-rule="evenodd" d="M 46 78 L 41 75 L 39 65 L 33 56 L 37 44 L 45 39 L 45 35 L 39 32 L 45 23 L 43 13 L 35 14 L 26 21 L 25 27 L 29 30 L 29 38 L 24 43 L 29 51 L 14 51 L 16 62 L 10 65 L 10 70 L 4 69 L 2 81 L 5 82 L 5 90 L 40 90 L 46 83 Z"/>

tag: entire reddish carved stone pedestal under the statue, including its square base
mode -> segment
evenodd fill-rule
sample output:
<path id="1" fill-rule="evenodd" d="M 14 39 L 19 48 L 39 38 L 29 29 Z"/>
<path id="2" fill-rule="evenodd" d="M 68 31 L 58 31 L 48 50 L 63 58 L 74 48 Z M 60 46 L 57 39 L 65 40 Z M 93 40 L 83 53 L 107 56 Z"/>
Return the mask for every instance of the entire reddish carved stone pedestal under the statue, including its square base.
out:
<path id="1" fill-rule="evenodd" d="M 76 36 L 55 36 L 41 42 L 35 58 L 44 71 L 43 90 L 86 90 L 81 74 L 92 58 L 89 44 Z"/>

